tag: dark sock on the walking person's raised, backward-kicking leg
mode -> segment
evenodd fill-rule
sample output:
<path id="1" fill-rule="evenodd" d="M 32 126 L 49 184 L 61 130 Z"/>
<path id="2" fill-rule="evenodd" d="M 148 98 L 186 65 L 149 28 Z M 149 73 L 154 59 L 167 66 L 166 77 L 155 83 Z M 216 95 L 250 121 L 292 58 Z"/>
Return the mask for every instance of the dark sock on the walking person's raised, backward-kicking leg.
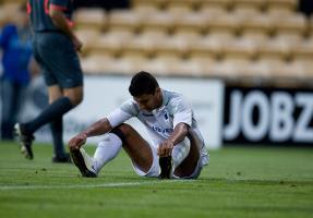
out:
<path id="1" fill-rule="evenodd" d="M 23 129 L 25 130 L 26 134 L 33 134 L 43 125 L 61 118 L 72 108 L 73 106 L 71 100 L 68 97 L 61 97 L 49 105 L 49 107 L 46 108 L 37 118 L 27 123 L 23 123 Z"/>

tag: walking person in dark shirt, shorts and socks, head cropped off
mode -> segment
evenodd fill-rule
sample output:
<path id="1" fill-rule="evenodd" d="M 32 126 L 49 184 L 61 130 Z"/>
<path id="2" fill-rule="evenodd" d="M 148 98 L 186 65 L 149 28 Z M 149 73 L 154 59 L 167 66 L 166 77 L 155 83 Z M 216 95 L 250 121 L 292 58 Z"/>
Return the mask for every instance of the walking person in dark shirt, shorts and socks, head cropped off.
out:
<path id="1" fill-rule="evenodd" d="M 77 51 L 83 44 L 72 31 L 73 0 L 28 0 L 33 51 L 48 86 L 49 106 L 35 119 L 14 125 L 21 152 L 33 159 L 34 133 L 50 124 L 56 156 L 53 162 L 69 162 L 63 146 L 63 114 L 83 100 L 83 72 Z"/>

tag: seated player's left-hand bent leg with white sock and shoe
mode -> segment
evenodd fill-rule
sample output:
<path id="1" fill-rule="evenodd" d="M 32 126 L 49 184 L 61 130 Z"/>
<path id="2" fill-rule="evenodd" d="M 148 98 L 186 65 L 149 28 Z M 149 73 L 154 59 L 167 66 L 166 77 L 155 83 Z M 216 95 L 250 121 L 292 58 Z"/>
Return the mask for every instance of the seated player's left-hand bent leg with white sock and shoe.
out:
<path id="1" fill-rule="evenodd" d="M 88 177 L 91 174 L 89 172 L 97 174 L 107 162 L 119 154 L 121 147 L 123 147 L 130 156 L 135 171 L 140 175 L 155 174 L 152 172 L 154 156 L 151 146 L 131 125 L 124 123 L 115 128 L 107 134 L 106 138 L 98 144 L 92 160 L 82 148 L 80 150 L 81 154 L 77 154 L 77 152 L 76 155 L 72 152 L 71 154 L 72 157 L 73 155 L 76 156 L 73 158 L 73 161 L 82 174 Z"/>

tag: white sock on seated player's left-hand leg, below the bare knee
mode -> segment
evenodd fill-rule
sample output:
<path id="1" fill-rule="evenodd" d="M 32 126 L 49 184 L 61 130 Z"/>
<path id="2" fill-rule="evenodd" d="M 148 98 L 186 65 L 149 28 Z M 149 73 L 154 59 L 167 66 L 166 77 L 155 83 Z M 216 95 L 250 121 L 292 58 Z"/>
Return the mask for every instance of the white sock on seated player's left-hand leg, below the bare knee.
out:
<path id="1" fill-rule="evenodd" d="M 97 173 L 119 154 L 121 147 L 122 141 L 113 133 L 108 133 L 107 137 L 99 142 L 94 155 L 94 167 Z"/>

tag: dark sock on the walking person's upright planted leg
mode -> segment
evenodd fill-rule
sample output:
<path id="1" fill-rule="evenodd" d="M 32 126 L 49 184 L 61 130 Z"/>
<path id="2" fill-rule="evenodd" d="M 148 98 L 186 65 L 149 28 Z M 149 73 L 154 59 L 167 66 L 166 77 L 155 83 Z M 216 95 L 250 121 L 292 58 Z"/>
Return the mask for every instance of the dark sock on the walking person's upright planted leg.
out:
<path id="1" fill-rule="evenodd" d="M 63 119 L 58 118 L 50 123 L 50 129 L 53 140 L 53 149 L 56 157 L 63 157 L 65 155 L 63 145 Z"/>

